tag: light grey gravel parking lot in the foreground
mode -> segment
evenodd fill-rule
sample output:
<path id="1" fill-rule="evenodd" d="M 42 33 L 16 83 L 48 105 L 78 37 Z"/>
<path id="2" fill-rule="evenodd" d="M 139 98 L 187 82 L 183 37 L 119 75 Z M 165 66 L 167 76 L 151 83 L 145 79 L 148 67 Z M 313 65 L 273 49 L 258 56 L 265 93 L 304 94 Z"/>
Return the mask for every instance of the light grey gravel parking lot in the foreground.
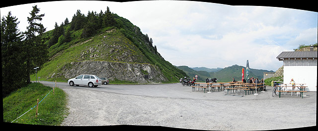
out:
<path id="1" fill-rule="evenodd" d="M 53 83 L 41 82 L 51 86 Z M 181 84 L 71 87 L 69 115 L 61 126 L 141 125 L 195 130 L 277 130 L 316 126 L 317 92 L 272 97 L 204 93 Z"/>

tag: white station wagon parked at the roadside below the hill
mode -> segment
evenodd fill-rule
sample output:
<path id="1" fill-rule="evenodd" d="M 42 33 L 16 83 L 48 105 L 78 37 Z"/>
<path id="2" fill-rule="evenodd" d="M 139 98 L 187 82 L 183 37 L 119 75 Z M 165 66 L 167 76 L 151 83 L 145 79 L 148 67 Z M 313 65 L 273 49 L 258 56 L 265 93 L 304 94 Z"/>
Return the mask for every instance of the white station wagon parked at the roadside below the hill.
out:
<path id="1" fill-rule="evenodd" d="M 79 75 L 68 81 L 70 86 L 84 85 L 88 87 L 97 87 L 101 85 L 101 79 L 95 75 Z"/>

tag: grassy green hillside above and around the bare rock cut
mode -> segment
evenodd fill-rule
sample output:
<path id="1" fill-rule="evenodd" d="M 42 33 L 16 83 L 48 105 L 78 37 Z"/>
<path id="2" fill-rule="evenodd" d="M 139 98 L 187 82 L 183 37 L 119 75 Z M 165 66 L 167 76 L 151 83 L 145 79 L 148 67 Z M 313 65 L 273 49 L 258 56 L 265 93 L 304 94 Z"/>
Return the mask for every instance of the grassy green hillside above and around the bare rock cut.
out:
<path id="1" fill-rule="evenodd" d="M 71 41 L 60 41 L 49 48 L 49 61 L 38 72 L 41 80 L 66 82 L 70 78 L 56 77 L 62 69 L 68 69 L 71 62 L 110 61 L 126 63 L 149 63 L 157 66 L 164 77 L 165 83 L 178 82 L 186 74 L 165 61 L 139 27 L 129 20 L 113 14 L 117 24 L 94 30 L 90 37 L 83 38 L 83 29 L 71 30 L 72 23 L 63 26 L 64 32 L 70 31 Z M 53 32 L 43 35 L 43 40 L 49 44 Z M 59 38 L 60 39 L 60 38 Z M 72 70 L 72 69 L 70 69 Z M 31 75 L 35 80 L 35 74 Z"/>

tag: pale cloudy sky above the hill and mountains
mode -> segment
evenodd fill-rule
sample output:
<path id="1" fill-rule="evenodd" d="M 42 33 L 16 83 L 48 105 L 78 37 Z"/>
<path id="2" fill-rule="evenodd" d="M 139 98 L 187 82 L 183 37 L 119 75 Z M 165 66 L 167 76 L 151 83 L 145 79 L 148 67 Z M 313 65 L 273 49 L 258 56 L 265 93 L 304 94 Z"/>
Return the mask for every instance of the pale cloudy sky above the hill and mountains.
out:
<path id="1" fill-rule="evenodd" d="M 228 5 L 200 1 L 48 1 L 0 8 L 1 18 L 11 11 L 28 26 L 32 6 L 45 14 L 46 31 L 66 18 L 72 21 L 79 9 L 106 11 L 138 26 L 153 39 L 161 56 L 175 66 L 225 68 L 232 65 L 276 71 L 283 65 L 276 57 L 300 44 L 318 41 L 318 12 L 275 6 Z"/>

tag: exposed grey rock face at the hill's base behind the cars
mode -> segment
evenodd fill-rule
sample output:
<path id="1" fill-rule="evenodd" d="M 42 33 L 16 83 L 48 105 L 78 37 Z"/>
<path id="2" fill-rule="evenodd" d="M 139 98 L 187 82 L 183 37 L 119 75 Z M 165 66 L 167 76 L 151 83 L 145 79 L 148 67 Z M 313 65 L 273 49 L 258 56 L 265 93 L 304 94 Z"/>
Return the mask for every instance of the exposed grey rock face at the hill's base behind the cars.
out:
<path id="1" fill-rule="evenodd" d="M 132 81 L 137 83 L 159 83 L 166 81 L 157 66 L 141 63 L 108 62 L 108 61 L 84 61 L 71 62 L 63 67 L 59 74 L 65 78 L 75 78 L 80 74 L 91 74 L 98 77 L 106 77 L 109 80 Z M 149 79 L 145 79 L 145 74 Z"/>

